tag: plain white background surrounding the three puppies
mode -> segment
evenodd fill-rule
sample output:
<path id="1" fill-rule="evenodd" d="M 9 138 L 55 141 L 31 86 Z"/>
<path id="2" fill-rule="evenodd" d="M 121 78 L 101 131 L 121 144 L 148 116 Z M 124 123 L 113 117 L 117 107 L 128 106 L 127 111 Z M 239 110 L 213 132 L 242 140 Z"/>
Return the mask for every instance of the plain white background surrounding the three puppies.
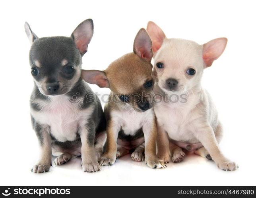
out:
<path id="1" fill-rule="evenodd" d="M 0 185 L 256 185 L 255 13 L 254 1 L 2 1 Z M 165 169 L 150 169 L 124 156 L 97 173 L 84 173 L 79 158 L 48 173 L 30 172 L 38 143 L 30 124 L 33 80 L 24 22 L 39 37 L 70 36 L 87 18 L 93 19 L 95 29 L 83 69 L 106 69 L 131 52 L 136 33 L 149 20 L 169 38 L 200 44 L 229 39 L 223 55 L 205 70 L 202 84 L 224 125 L 221 149 L 239 164 L 237 171 L 222 171 L 214 162 L 191 155 Z"/>

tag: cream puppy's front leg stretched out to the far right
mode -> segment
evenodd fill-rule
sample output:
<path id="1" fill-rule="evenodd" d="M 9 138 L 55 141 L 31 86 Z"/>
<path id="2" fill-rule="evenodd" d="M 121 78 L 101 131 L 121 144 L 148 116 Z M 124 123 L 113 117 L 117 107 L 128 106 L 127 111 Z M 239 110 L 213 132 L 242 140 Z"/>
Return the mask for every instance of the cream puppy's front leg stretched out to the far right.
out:
<path id="1" fill-rule="evenodd" d="M 218 142 L 215 138 L 214 131 L 211 126 L 206 123 L 200 123 L 196 128 L 196 137 L 206 148 L 206 150 L 208 150 L 211 158 L 214 160 L 219 168 L 231 171 L 238 168 L 235 162 L 231 162 L 221 153 Z"/>

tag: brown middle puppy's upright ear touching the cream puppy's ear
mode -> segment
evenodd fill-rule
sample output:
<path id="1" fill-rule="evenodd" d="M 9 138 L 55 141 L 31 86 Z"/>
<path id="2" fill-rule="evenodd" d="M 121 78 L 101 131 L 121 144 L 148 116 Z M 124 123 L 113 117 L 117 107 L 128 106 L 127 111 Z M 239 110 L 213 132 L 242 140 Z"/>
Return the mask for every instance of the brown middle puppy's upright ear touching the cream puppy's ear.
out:
<path id="1" fill-rule="evenodd" d="M 139 30 L 134 39 L 133 51 L 139 57 L 149 62 L 153 57 L 152 42 L 144 28 Z"/>

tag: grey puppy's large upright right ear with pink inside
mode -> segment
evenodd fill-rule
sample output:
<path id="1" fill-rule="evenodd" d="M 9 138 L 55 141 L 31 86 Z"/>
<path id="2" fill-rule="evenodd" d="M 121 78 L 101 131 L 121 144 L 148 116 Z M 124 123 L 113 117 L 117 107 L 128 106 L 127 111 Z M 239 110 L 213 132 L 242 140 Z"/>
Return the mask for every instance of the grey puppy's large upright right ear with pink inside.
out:
<path id="1" fill-rule="evenodd" d="M 76 47 L 83 56 L 87 52 L 88 44 L 93 37 L 93 20 L 86 19 L 76 27 L 71 34 L 71 38 L 75 41 Z"/>

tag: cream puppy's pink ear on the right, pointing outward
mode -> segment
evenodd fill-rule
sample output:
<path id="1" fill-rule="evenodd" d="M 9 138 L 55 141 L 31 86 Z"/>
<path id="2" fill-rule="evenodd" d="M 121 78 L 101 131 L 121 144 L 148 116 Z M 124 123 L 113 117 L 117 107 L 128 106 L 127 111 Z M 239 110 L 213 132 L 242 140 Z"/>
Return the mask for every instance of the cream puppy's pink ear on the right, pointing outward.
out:
<path id="1" fill-rule="evenodd" d="M 203 45 L 203 59 L 206 67 L 220 57 L 227 45 L 227 38 L 216 38 Z"/>

